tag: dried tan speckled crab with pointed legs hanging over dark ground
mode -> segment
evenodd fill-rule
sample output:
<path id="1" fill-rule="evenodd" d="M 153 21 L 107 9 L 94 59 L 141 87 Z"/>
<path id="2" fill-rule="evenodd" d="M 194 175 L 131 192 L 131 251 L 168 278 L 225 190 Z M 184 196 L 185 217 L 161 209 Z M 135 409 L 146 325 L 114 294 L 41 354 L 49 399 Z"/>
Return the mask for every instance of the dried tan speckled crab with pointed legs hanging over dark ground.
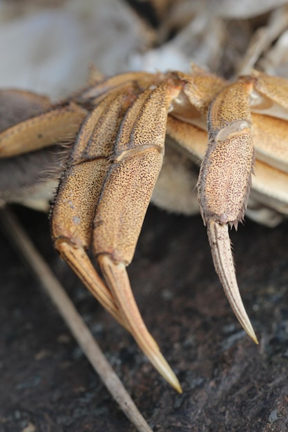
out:
<path id="1" fill-rule="evenodd" d="M 32 92 L 0 93 L 2 204 L 21 202 L 44 210 L 60 177 L 50 212 L 55 248 L 180 393 L 180 382 L 146 329 L 126 273 L 146 209 L 151 197 L 167 210 L 200 209 L 224 292 L 258 343 L 240 297 L 229 227 L 237 229 L 246 209 L 269 226 L 288 213 L 287 100 L 285 79 L 253 70 L 231 84 L 198 66 L 190 75 L 97 75 L 90 86 L 55 105 Z M 182 153 L 193 168 L 183 164 L 179 181 Z M 20 183 L 17 170 L 32 170 L 34 178 L 21 177 Z M 39 177 L 45 181 L 35 181 Z"/>

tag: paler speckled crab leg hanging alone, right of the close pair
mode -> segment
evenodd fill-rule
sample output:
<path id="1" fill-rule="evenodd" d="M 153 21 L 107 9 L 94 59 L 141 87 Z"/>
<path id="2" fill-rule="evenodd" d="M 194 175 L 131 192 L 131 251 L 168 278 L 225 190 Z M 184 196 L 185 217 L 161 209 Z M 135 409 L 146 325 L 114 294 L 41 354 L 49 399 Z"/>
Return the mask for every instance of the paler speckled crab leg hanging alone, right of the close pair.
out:
<path id="1" fill-rule="evenodd" d="M 247 206 L 253 168 L 249 95 L 253 84 L 238 81 L 222 90 L 208 117 L 209 145 L 200 169 L 198 196 L 208 228 L 213 262 L 240 324 L 256 343 L 236 281 L 228 225 L 238 226 Z M 235 103 L 235 101 L 237 101 Z"/>

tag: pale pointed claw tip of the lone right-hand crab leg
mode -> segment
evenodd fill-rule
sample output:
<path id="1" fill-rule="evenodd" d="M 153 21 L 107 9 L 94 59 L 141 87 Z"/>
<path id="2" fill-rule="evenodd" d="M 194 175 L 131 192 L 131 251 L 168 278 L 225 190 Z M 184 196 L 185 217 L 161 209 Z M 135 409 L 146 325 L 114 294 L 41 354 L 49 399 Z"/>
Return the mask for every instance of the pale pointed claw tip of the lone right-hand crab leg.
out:
<path id="1" fill-rule="evenodd" d="M 258 344 L 256 334 L 253 331 L 252 324 L 240 296 L 231 252 L 228 225 L 221 225 L 218 222 L 210 220 L 207 222 L 207 230 L 215 270 L 224 288 L 224 293 L 227 295 L 231 308 L 244 331 Z"/>

